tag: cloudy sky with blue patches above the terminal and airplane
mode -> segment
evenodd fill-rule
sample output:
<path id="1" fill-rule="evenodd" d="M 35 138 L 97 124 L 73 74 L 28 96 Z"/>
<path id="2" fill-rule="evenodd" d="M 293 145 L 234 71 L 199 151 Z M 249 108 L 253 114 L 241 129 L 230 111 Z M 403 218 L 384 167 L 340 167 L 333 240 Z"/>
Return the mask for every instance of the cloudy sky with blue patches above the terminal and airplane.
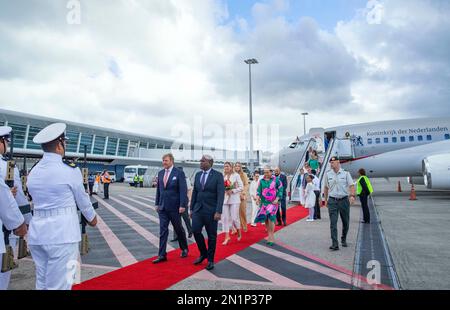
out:
<path id="1" fill-rule="evenodd" d="M 81 3 L 78 16 L 77 3 Z M 169 137 L 450 115 L 447 0 L 0 0 L 0 107 Z M 78 23 L 80 21 L 80 23 Z"/>

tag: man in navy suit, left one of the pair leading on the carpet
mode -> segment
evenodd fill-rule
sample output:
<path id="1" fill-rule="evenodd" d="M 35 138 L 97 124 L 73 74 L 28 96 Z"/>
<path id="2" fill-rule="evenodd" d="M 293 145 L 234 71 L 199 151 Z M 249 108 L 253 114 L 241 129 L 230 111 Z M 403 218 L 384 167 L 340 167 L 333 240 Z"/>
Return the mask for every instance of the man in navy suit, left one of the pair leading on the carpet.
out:
<path id="1" fill-rule="evenodd" d="M 156 211 L 159 215 L 159 254 L 153 261 L 158 264 L 167 261 L 167 238 L 169 237 L 169 223 L 177 233 L 178 243 L 182 250 L 181 257 L 187 257 L 188 244 L 186 233 L 181 224 L 180 214 L 186 210 L 187 186 L 184 172 L 174 167 L 172 154 L 163 156 L 164 169 L 158 173 L 158 185 L 156 188 Z"/>

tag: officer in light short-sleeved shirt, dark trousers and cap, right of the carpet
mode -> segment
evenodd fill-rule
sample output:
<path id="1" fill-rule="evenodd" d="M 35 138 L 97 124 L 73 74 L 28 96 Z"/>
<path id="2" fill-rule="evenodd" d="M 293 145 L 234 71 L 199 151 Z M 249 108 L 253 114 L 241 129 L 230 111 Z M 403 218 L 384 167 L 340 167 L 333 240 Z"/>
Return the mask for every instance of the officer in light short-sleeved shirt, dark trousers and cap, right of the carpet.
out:
<path id="1" fill-rule="evenodd" d="M 347 233 L 350 223 L 350 205 L 355 202 L 355 185 L 348 171 L 341 168 L 337 157 L 330 159 L 331 169 L 325 173 L 325 205 L 330 215 L 332 245 L 330 250 L 339 250 L 337 222 L 342 220 L 341 244 L 347 247 Z"/>

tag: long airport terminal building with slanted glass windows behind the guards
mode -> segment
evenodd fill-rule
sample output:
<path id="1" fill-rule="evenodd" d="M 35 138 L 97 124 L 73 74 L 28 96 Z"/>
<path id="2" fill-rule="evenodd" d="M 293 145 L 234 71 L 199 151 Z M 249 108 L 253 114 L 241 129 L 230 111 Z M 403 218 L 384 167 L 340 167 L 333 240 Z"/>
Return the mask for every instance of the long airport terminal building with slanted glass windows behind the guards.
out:
<path id="1" fill-rule="evenodd" d="M 161 166 L 162 155 L 173 152 L 172 147 L 175 141 L 171 139 L 0 109 L 0 126 L 7 125 L 13 128 L 14 157 L 20 169 L 24 165 L 29 169 L 41 158 L 43 154 L 41 146 L 34 144 L 33 138 L 42 128 L 56 122 L 67 124 L 66 136 L 69 140 L 67 141 L 66 158 L 82 164 L 86 149 L 89 171 L 96 172 L 107 169 L 115 172 L 117 180 L 123 178 L 124 169 L 129 165 L 154 167 L 156 171 Z M 185 168 L 198 168 L 199 155 L 211 154 L 211 152 L 218 165 L 225 160 L 248 162 L 248 153 L 245 152 L 226 152 L 225 150 L 197 145 L 180 145 L 179 143 L 176 150 L 176 165 Z M 255 152 L 254 156 L 257 162 L 258 154 L 259 152 Z"/>

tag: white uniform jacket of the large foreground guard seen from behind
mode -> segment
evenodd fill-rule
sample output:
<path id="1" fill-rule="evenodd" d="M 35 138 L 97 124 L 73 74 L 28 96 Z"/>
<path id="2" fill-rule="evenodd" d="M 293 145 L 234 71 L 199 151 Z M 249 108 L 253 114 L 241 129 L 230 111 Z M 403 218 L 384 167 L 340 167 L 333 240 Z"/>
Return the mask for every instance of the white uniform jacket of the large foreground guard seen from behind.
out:
<path id="1" fill-rule="evenodd" d="M 28 244 L 81 241 L 77 206 L 89 222 L 96 214 L 83 187 L 80 169 L 66 165 L 58 154 L 44 153 L 42 160 L 31 170 L 27 186 L 34 203 Z"/>

